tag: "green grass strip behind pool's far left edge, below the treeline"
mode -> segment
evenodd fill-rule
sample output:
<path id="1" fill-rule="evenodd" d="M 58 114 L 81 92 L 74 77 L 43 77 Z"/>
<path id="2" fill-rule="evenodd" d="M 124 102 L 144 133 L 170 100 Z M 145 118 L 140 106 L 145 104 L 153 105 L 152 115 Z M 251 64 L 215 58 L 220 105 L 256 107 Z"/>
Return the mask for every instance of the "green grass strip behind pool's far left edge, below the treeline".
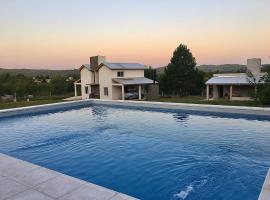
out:
<path id="1" fill-rule="evenodd" d="M 18 107 L 26 107 L 26 106 L 35 106 L 41 104 L 49 104 L 49 103 L 57 103 L 63 102 L 62 99 L 47 99 L 47 100 L 33 100 L 33 101 L 18 101 L 18 102 L 7 102 L 7 103 L 0 103 L 0 110 L 2 109 L 9 109 L 9 108 L 18 108 Z"/>

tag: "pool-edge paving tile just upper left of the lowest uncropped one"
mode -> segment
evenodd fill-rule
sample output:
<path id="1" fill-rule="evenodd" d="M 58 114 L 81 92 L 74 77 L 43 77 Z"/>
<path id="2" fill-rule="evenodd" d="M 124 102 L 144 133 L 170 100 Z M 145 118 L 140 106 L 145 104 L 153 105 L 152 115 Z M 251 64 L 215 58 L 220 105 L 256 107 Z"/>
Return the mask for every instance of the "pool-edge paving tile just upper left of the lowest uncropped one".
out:
<path id="1" fill-rule="evenodd" d="M 43 182 L 48 181 L 49 179 L 60 175 L 60 173 L 57 173 L 55 171 L 43 167 L 38 167 L 32 171 L 29 171 L 28 173 L 19 174 L 14 177 L 14 179 L 24 185 L 35 187 Z"/>

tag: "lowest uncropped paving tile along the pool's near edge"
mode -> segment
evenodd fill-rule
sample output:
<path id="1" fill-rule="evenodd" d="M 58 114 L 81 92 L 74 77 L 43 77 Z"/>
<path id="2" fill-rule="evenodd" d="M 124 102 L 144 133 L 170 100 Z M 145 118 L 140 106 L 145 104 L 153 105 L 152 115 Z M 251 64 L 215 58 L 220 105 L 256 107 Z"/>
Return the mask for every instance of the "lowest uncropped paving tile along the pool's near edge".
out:
<path id="1" fill-rule="evenodd" d="M 40 184 L 36 189 L 53 198 L 58 198 L 72 192 L 83 184 L 85 184 L 85 182 L 79 179 L 60 175 Z"/>

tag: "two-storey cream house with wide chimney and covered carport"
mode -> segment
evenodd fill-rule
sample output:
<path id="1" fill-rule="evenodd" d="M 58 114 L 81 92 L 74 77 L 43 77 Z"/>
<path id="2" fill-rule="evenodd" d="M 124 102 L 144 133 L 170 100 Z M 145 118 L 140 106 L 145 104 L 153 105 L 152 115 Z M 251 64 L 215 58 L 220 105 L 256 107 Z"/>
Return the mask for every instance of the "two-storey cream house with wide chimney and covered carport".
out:
<path id="1" fill-rule="evenodd" d="M 112 63 L 105 56 L 90 57 L 90 63 L 79 69 L 81 79 L 74 83 L 75 96 L 80 85 L 82 99 L 142 99 L 150 94 L 154 98 L 158 95 L 158 85 L 144 77 L 145 69 L 139 63 Z"/>

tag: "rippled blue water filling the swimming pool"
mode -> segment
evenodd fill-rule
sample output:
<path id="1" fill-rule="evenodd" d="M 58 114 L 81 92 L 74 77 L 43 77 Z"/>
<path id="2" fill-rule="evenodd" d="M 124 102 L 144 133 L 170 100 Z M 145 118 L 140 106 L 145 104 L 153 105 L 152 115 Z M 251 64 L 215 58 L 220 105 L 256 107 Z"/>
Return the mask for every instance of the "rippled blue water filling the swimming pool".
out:
<path id="1" fill-rule="evenodd" d="M 0 119 L 0 152 L 141 199 L 257 199 L 270 122 L 89 106 Z"/>

